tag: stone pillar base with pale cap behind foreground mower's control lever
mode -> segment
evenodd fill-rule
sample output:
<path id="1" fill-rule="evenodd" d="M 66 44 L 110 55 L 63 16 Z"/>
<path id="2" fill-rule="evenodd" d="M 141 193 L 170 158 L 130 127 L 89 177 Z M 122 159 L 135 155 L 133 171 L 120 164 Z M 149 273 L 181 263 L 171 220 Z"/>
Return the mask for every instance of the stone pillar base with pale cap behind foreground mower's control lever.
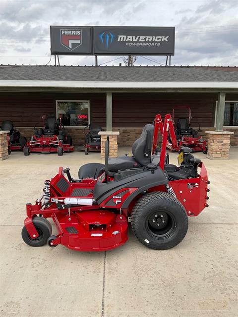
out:
<path id="1" fill-rule="evenodd" d="M 118 157 L 118 135 L 119 131 L 101 131 L 98 133 L 101 135 L 101 160 L 105 159 L 105 142 L 109 137 L 109 157 Z"/>

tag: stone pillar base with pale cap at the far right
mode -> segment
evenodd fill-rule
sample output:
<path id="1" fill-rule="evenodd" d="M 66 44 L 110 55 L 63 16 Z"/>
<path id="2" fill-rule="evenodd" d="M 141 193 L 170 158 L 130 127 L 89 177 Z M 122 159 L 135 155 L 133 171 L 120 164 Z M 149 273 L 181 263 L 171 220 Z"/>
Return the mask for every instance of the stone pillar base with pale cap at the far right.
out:
<path id="1" fill-rule="evenodd" d="M 206 131 L 208 135 L 208 159 L 229 159 L 230 136 L 234 132 Z"/>

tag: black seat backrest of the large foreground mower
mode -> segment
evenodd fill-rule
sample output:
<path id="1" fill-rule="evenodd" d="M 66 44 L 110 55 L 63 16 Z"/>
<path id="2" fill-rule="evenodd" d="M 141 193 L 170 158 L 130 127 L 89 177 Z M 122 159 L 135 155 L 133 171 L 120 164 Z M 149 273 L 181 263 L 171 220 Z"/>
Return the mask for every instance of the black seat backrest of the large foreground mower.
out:
<path id="1" fill-rule="evenodd" d="M 154 137 L 154 125 L 146 124 L 141 132 L 139 139 L 132 145 L 132 154 L 135 160 L 142 166 L 151 162 L 151 150 Z"/>

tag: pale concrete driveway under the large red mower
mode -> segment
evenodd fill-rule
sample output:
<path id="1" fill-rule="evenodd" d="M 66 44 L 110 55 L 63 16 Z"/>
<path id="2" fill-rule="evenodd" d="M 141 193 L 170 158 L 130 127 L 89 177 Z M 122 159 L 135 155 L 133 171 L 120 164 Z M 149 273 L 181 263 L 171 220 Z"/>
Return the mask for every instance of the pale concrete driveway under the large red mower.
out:
<path id="1" fill-rule="evenodd" d="M 170 157 L 176 163 L 177 154 Z M 129 230 L 119 249 L 80 253 L 26 245 L 25 204 L 41 196 L 44 180 L 59 166 L 69 166 L 76 178 L 79 166 L 99 161 L 99 154 L 13 152 L 0 163 L 0 316 L 238 316 L 238 148 L 231 149 L 229 161 L 197 157 L 209 173 L 210 207 L 189 218 L 182 243 L 153 251 Z"/>

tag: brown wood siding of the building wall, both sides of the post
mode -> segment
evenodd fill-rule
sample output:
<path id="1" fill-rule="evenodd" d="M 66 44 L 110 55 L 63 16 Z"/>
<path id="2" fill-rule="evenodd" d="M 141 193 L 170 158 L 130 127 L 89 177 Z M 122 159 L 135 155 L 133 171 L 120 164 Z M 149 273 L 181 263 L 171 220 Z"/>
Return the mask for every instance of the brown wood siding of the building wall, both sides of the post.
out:
<path id="1" fill-rule="evenodd" d="M 1 93 L 0 123 L 11 119 L 18 127 L 33 127 L 42 114 L 56 113 L 56 100 L 89 100 L 91 122 L 106 126 L 106 94 L 89 93 Z M 212 127 L 216 100 L 217 94 L 113 94 L 113 127 L 143 127 L 176 105 L 191 107 L 194 126 L 199 121 L 201 127 Z M 176 114 L 187 116 L 187 111 Z"/>

